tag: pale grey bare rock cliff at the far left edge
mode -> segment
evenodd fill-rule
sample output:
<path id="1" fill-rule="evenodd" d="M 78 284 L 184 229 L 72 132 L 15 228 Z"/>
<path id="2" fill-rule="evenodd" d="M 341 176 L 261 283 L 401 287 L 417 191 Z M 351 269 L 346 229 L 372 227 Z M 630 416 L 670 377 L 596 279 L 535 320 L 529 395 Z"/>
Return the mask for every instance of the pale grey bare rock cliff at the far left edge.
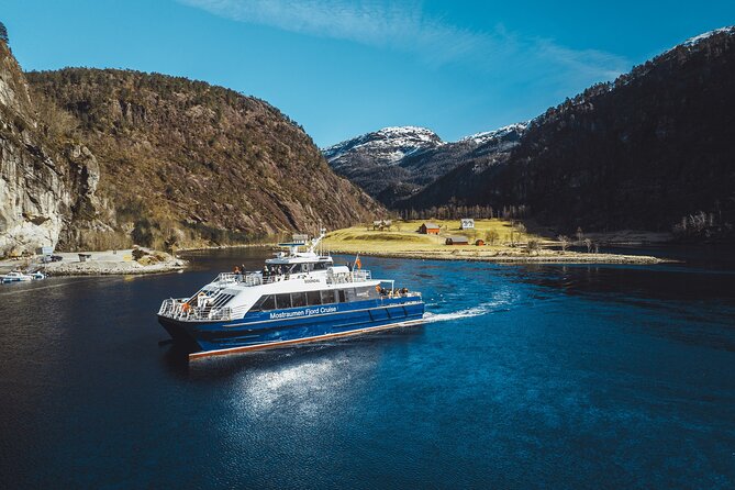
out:
<path id="1" fill-rule="evenodd" d="M 0 41 L 0 256 L 55 246 L 83 216 L 99 178 L 91 152 L 49 137 L 8 45 Z M 87 216 L 89 218 L 89 216 Z"/>

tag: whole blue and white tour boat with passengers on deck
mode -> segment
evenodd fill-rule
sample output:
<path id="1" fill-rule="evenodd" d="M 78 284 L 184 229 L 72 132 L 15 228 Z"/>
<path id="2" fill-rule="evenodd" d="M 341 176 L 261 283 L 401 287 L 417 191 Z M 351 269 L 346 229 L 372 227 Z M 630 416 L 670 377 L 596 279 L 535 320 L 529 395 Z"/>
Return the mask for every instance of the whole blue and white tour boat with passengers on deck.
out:
<path id="1" fill-rule="evenodd" d="M 318 250 L 324 237 L 294 235 L 261 271 L 220 274 L 189 298 L 167 299 L 158 322 L 189 359 L 285 347 L 421 323 L 421 293 L 397 289 Z M 300 252 L 300 248 L 305 248 Z"/>

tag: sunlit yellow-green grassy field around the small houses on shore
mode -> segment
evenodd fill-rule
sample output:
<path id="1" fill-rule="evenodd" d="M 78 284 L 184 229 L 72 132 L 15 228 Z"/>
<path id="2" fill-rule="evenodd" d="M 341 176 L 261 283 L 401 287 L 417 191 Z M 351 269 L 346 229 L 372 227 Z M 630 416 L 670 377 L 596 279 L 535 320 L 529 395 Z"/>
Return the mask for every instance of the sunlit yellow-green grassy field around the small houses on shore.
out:
<path id="1" fill-rule="evenodd" d="M 511 247 L 511 243 L 525 244 L 528 240 L 542 240 L 539 236 L 521 233 L 504 220 L 475 220 L 475 230 L 460 230 L 459 220 L 433 220 L 439 225 L 439 235 L 422 235 L 417 233 L 424 221 L 397 221 L 390 230 L 374 231 L 370 226 L 353 226 L 336 230 L 324 238 L 324 246 L 344 252 L 390 253 L 390 252 L 452 252 L 503 249 Z M 512 236 L 511 236 L 512 234 Z M 469 240 L 469 245 L 445 245 L 448 236 L 463 235 Z M 486 246 L 475 245 L 476 240 L 483 240 Z"/>

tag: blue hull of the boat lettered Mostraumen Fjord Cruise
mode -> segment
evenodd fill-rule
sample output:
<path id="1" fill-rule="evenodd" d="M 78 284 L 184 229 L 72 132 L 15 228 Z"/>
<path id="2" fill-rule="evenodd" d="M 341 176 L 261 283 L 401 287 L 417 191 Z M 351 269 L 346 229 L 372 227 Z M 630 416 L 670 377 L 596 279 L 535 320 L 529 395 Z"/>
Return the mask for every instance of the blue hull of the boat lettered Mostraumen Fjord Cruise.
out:
<path id="1" fill-rule="evenodd" d="M 175 342 L 196 352 L 190 358 L 282 347 L 416 323 L 421 300 L 402 298 L 247 313 L 226 322 L 182 322 L 158 316 Z"/>

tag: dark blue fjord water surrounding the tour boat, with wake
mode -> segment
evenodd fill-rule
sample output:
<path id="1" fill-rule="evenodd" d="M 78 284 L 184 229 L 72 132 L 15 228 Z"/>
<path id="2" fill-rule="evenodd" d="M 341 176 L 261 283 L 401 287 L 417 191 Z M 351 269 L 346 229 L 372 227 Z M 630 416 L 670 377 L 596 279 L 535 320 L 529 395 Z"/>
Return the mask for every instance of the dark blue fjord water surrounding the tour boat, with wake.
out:
<path id="1" fill-rule="evenodd" d="M 158 345 L 160 300 L 263 256 L 0 288 L 0 487 L 735 486 L 732 269 L 365 257 L 428 323 L 191 366 Z"/>

